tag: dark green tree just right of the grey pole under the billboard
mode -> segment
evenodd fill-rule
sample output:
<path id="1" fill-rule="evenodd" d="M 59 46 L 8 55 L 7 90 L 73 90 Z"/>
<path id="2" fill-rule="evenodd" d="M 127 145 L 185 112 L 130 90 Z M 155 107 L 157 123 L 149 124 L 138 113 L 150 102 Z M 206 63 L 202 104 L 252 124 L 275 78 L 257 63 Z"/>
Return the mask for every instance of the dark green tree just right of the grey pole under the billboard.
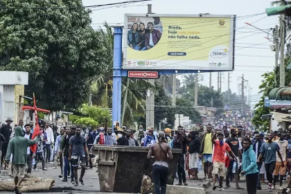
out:
<path id="1" fill-rule="evenodd" d="M 166 96 L 164 88 L 158 82 L 155 83 L 155 87 L 155 127 L 159 128 L 159 123 L 161 123 L 162 129 L 173 128 L 175 125 L 175 109 L 172 107 L 172 101 L 169 96 Z"/>

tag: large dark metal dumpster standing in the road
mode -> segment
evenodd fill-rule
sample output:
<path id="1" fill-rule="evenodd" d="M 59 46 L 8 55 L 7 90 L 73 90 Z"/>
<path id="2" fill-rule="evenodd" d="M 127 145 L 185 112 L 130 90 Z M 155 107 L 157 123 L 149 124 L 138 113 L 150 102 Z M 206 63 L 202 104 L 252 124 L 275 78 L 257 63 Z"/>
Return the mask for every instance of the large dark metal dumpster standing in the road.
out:
<path id="1" fill-rule="evenodd" d="M 98 173 L 100 191 L 115 193 L 139 193 L 143 175 L 151 177 L 153 159 L 148 160 L 145 147 L 118 145 L 94 145 L 99 156 Z M 168 161 L 168 184 L 173 184 L 180 149 L 172 149 L 173 160 Z"/>

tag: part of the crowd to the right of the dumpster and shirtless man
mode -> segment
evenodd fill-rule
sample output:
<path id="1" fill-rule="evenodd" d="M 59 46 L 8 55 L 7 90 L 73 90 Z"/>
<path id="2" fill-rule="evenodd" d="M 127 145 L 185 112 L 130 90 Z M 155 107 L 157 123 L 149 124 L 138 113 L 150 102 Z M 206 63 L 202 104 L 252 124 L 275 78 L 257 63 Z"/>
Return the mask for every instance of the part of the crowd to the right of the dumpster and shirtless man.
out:
<path id="1" fill-rule="evenodd" d="M 179 185 L 186 184 L 185 170 L 179 169 L 183 169 L 185 165 L 188 176 L 197 179 L 197 169 L 202 162 L 203 179 L 213 181 L 213 190 L 221 191 L 224 179 L 225 188 L 229 188 L 229 182 L 234 179 L 236 188 L 244 189 L 239 186 L 240 176 L 246 177 L 249 194 L 261 190 L 261 183 L 265 183 L 265 178 L 269 191 L 276 189 L 277 182 L 279 190 L 283 190 L 284 179 L 288 181 L 288 188 L 291 186 L 291 176 L 289 179 L 286 176 L 287 173 L 290 175 L 291 167 L 291 125 L 288 130 L 279 129 L 264 134 L 245 130 L 242 126 L 230 129 L 224 126 L 220 130 L 209 124 L 204 129 L 201 124 L 200 129 L 191 131 L 188 136 L 182 134 L 183 141 L 180 141 L 183 142 L 185 157 L 180 157 L 177 168 Z M 174 148 L 178 148 L 175 143 L 174 138 Z"/>

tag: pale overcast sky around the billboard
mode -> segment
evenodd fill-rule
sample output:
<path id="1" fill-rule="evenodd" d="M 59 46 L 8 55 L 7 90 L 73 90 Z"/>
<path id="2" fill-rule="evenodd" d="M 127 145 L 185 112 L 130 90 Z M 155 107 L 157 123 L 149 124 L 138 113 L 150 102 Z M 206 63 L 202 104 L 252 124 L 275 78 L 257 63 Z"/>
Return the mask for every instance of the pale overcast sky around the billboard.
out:
<path id="1" fill-rule="evenodd" d="M 123 0 L 82 0 L 84 6 L 92 6 L 105 3 L 116 3 Z M 125 1 L 125 0 L 124 0 Z M 265 12 L 265 8 L 271 7 L 270 0 L 153 0 L 145 3 L 134 3 L 128 6 L 119 6 L 112 8 L 94 8 L 91 14 L 92 26 L 97 29 L 98 26 L 107 21 L 109 24 L 123 24 L 125 13 L 145 13 L 147 4 L 152 4 L 152 12 L 159 14 L 189 14 L 210 13 L 213 15 L 236 15 L 236 55 L 234 71 L 231 72 L 231 91 L 239 93 L 238 78 L 244 74 L 245 80 L 249 80 L 252 87 L 251 99 L 254 103 L 258 101 L 258 86 L 261 84 L 261 75 L 267 71 L 272 71 L 274 66 L 274 52 L 270 50 L 270 44 L 263 33 L 252 26 L 247 26 L 245 22 L 268 31 L 279 25 L 279 17 L 267 17 L 267 15 L 257 15 L 254 17 L 243 17 Z M 271 33 L 272 34 L 272 33 Z M 245 37 L 249 35 L 249 37 Z M 243 38 L 242 38 L 243 37 Z M 258 45 L 254 45 L 258 44 Z M 250 47 L 251 46 L 251 47 Z M 244 48 L 249 47 L 249 48 Z M 227 74 L 222 73 L 222 91 L 227 90 Z M 217 73 L 212 73 L 212 85 L 217 89 Z M 200 81 L 202 85 L 209 85 L 209 73 L 204 73 L 204 80 Z M 249 94 L 248 88 L 245 89 Z"/>

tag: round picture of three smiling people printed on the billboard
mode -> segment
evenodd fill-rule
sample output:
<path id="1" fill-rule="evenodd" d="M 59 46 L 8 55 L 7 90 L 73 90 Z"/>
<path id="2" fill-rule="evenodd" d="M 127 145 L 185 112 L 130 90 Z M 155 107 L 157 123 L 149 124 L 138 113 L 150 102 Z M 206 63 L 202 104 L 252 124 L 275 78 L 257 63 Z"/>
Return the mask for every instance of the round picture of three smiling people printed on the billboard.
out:
<path id="1" fill-rule="evenodd" d="M 154 22 L 148 22 L 146 27 L 142 22 L 133 23 L 127 33 L 127 45 L 136 51 L 147 51 L 159 42 L 161 31 L 159 17 Z"/>

